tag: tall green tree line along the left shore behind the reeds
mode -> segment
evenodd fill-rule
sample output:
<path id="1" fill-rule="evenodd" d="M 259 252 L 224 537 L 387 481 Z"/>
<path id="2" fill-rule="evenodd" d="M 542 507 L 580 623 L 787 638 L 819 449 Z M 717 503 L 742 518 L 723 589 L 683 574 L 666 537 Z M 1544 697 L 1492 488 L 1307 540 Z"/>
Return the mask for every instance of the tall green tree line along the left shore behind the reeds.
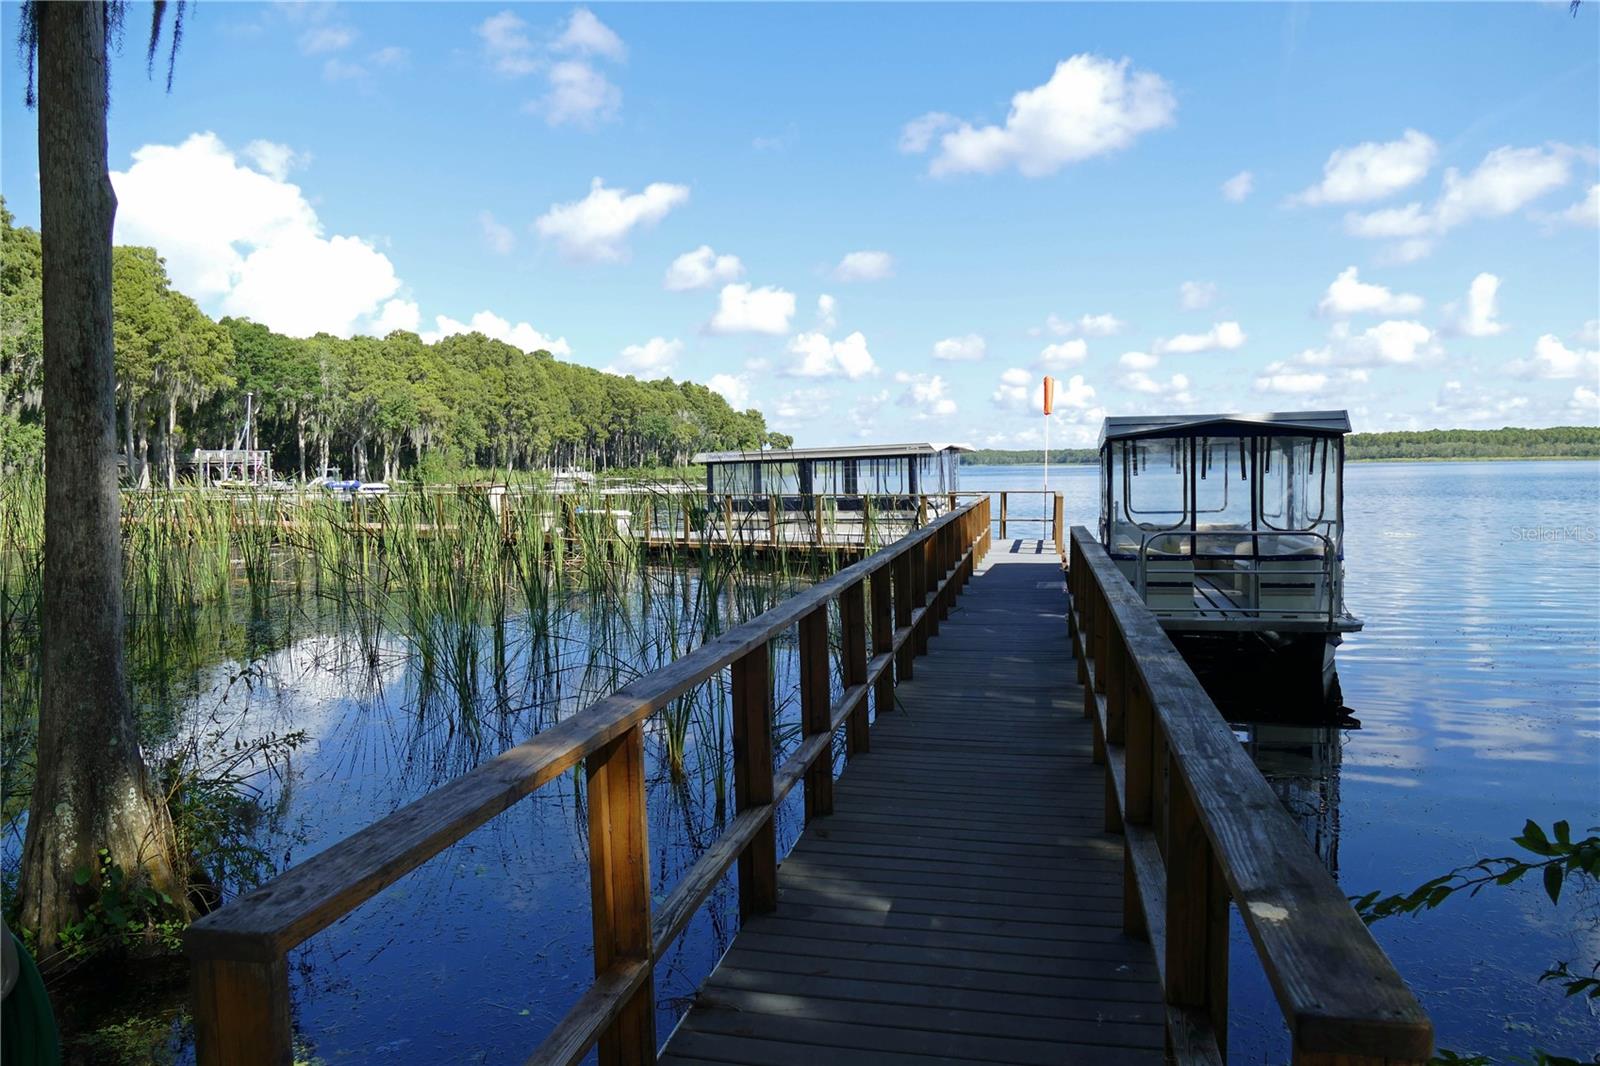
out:
<path id="1" fill-rule="evenodd" d="M 0 202 L 0 467 L 43 455 L 40 235 Z M 112 250 L 117 429 L 133 483 L 174 485 L 195 448 L 266 448 L 282 475 L 362 480 L 472 467 L 683 466 L 694 451 L 787 447 L 760 411 L 691 381 L 637 381 L 461 333 L 424 344 L 248 319 L 213 322 L 155 248 Z"/>

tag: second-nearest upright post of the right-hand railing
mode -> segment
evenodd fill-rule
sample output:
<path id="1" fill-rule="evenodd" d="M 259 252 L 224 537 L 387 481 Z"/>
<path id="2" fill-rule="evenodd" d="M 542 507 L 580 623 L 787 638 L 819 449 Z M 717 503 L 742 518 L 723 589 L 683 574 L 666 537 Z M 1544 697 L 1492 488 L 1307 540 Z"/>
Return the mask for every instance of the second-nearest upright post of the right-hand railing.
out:
<path id="1" fill-rule="evenodd" d="M 1166 807 L 1166 1002 L 1210 1018 L 1226 1061 L 1227 888 L 1182 773 Z"/>

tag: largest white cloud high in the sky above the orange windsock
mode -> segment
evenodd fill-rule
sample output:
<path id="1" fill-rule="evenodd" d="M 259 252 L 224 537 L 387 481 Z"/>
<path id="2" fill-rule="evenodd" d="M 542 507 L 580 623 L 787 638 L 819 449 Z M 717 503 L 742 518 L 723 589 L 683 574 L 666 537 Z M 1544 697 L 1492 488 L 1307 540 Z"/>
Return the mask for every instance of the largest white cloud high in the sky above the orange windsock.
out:
<path id="1" fill-rule="evenodd" d="M 936 178 L 1008 166 L 1040 178 L 1128 147 L 1141 133 L 1171 125 L 1176 109 L 1160 75 L 1133 70 L 1128 59 L 1077 54 L 1056 64 L 1043 85 L 1016 93 L 1003 126 L 973 126 L 934 112 L 906 126 L 901 147 L 926 150 L 942 131 L 928 166 Z"/>

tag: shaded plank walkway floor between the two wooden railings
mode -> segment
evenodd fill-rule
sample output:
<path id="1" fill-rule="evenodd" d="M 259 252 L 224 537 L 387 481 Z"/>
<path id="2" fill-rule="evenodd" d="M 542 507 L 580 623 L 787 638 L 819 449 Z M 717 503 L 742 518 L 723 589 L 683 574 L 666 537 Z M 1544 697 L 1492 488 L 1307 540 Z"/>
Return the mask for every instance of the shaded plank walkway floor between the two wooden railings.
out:
<path id="1" fill-rule="evenodd" d="M 1050 541 L 997 541 L 662 1063 L 1160 1063 Z"/>

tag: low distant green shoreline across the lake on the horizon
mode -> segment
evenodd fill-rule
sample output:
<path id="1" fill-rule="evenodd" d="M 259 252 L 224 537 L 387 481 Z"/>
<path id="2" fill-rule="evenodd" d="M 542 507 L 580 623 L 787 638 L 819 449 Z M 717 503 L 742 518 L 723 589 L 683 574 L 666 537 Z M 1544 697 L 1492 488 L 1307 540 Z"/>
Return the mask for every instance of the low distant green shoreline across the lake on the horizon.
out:
<path id="1" fill-rule="evenodd" d="M 1059 466 L 1093 466 L 1094 448 L 1051 448 L 1050 461 Z M 1373 461 L 1450 459 L 1600 459 L 1600 426 L 1552 426 L 1549 429 L 1424 429 L 1381 434 L 1350 434 L 1344 458 Z M 979 448 L 962 456 L 962 466 L 1034 466 L 1045 451 Z"/>

